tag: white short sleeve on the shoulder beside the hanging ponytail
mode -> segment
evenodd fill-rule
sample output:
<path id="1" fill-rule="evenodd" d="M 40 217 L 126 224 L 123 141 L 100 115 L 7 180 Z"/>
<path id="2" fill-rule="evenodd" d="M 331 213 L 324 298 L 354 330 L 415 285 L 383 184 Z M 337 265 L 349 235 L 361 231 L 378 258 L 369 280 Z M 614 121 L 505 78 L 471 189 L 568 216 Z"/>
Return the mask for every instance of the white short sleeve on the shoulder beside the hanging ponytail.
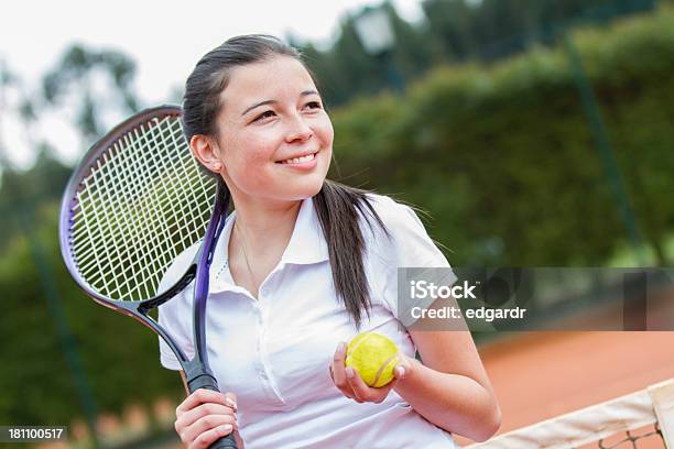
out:
<path id="1" fill-rule="evenodd" d="M 414 303 L 404 299 L 406 295 L 399 294 L 399 269 L 435 269 L 424 272 L 424 278 L 432 280 L 437 285 L 452 285 L 457 277 L 412 208 L 384 196 L 376 196 L 376 201 L 374 210 L 380 215 L 390 234 L 390 240 L 385 236 L 378 234 L 376 247 L 381 250 L 378 258 L 380 270 L 376 271 L 376 276 L 380 277 L 384 302 L 393 315 L 409 327 L 414 321 L 411 321 L 409 314 L 400 310 L 401 305 L 407 310 L 412 306 L 426 308 L 435 302 L 435 298 L 428 296 L 415 299 Z"/>

